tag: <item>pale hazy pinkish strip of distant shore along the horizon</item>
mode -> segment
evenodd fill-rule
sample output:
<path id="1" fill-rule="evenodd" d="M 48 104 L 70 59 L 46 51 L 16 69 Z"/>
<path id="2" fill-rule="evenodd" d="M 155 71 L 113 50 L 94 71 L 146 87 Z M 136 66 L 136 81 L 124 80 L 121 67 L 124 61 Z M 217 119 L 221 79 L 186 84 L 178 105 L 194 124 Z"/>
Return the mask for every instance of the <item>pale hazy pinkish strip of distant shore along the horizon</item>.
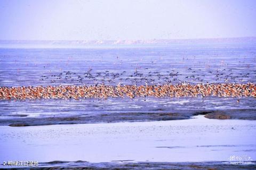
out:
<path id="1" fill-rule="evenodd" d="M 122 45 L 171 45 L 171 44 L 207 44 L 207 43 L 256 43 L 256 37 L 205 38 L 205 39 L 151 39 L 151 40 L 95 40 L 95 41 L 27 41 L 0 40 L 0 47 L 87 47 Z"/>

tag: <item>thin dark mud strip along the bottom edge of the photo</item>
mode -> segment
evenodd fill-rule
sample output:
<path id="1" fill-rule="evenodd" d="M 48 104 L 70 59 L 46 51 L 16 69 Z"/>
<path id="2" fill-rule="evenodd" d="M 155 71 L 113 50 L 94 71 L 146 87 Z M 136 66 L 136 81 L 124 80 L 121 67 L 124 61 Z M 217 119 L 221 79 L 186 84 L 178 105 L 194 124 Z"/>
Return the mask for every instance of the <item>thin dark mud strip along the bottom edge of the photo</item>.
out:
<path id="1" fill-rule="evenodd" d="M 39 163 L 38 167 L 19 167 L 9 169 L 37 169 L 37 170 L 49 170 L 49 169 L 255 169 L 255 162 L 250 164 L 231 164 L 228 162 L 202 162 L 202 163 L 154 163 L 154 162 L 138 162 L 127 163 L 123 161 L 118 163 L 89 163 L 87 161 L 52 161 L 50 163 Z"/>

